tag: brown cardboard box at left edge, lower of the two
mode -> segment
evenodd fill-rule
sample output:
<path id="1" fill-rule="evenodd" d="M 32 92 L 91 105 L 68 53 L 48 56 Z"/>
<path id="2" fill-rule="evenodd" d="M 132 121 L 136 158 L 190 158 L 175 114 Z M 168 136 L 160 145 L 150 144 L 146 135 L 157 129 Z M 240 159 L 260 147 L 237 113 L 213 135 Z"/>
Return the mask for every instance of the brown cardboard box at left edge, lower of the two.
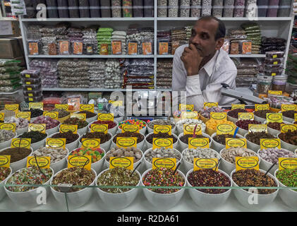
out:
<path id="1" fill-rule="evenodd" d="M 21 37 L 5 37 L 0 39 L 0 58 L 23 57 L 23 44 Z"/>

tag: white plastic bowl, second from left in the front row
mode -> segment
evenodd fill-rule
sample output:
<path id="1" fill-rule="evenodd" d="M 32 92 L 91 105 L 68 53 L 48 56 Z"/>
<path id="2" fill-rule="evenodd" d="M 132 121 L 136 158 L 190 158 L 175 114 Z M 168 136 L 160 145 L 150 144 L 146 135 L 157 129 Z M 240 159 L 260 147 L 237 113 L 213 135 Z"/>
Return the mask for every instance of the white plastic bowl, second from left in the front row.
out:
<path id="1" fill-rule="evenodd" d="M 59 172 L 54 174 L 54 177 L 56 177 L 56 175 L 62 172 L 63 170 L 66 170 L 66 169 L 61 169 Z M 89 186 L 94 186 L 97 174 L 94 169 L 91 169 L 91 170 L 95 174 L 95 179 L 92 181 L 92 183 Z M 51 177 L 50 184 L 52 183 L 52 180 L 54 179 L 54 177 Z M 90 200 L 90 197 L 92 196 L 92 191 L 93 191 L 93 188 L 86 187 L 85 189 L 81 189 L 80 191 L 68 192 L 67 201 L 68 201 L 69 208 L 71 209 L 79 208 L 80 206 L 85 205 L 85 203 L 87 203 L 87 201 Z M 53 187 L 51 187 L 51 192 L 54 195 L 54 198 L 56 198 L 56 201 L 58 201 L 58 203 L 61 206 L 66 206 L 65 194 L 63 192 L 56 191 L 54 190 Z"/>

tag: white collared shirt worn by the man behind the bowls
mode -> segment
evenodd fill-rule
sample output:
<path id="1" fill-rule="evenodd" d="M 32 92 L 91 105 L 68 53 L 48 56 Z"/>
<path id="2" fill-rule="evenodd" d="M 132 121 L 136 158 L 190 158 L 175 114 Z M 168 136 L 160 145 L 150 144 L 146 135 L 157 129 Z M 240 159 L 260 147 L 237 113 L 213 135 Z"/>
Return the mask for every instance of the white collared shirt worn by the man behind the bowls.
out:
<path id="1" fill-rule="evenodd" d="M 194 105 L 200 111 L 204 102 L 218 102 L 219 105 L 231 105 L 238 100 L 223 96 L 221 83 L 226 83 L 231 89 L 236 88 L 237 69 L 224 49 L 217 50 L 214 57 L 200 69 L 198 75 L 187 76 L 186 68 L 181 61 L 184 44 L 176 49 L 172 69 L 172 91 L 186 91 L 187 105 Z"/>

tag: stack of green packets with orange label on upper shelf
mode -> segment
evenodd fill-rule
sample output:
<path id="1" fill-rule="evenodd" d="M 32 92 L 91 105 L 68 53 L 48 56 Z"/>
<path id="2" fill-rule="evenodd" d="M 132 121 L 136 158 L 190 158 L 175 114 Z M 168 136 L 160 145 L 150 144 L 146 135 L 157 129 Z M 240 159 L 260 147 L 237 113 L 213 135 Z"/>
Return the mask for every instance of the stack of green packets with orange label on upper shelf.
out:
<path id="1" fill-rule="evenodd" d="M 114 29 L 112 28 L 99 28 L 97 32 L 98 41 L 98 54 L 109 55 L 111 54 L 111 37 Z"/>

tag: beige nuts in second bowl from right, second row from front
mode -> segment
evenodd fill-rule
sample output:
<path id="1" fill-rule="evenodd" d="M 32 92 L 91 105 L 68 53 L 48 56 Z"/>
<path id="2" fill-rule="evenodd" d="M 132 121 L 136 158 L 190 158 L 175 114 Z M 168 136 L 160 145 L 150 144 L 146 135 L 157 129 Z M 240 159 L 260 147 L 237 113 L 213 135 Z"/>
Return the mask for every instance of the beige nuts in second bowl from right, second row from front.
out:
<path id="1" fill-rule="evenodd" d="M 253 150 L 249 150 L 248 148 L 228 148 L 222 150 L 221 156 L 227 162 L 235 164 L 236 157 L 250 157 L 257 155 Z"/>

